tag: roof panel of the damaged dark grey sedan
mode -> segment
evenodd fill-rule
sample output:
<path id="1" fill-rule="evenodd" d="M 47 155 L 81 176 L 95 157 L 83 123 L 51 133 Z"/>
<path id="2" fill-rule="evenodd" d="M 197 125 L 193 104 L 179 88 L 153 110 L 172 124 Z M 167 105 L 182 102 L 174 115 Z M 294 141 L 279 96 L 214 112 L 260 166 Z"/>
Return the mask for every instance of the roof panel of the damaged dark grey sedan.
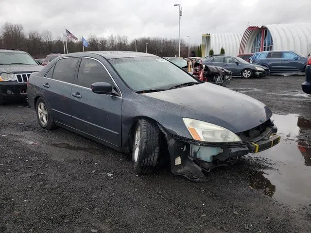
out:
<path id="1" fill-rule="evenodd" d="M 96 54 L 105 59 L 127 58 L 127 57 L 158 57 L 154 54 L 145 52 L 133 51 L 88 51 L 88 52 L 73 52 L 65 54 L 64 56 L 85 56 L 86 54 Z"/>

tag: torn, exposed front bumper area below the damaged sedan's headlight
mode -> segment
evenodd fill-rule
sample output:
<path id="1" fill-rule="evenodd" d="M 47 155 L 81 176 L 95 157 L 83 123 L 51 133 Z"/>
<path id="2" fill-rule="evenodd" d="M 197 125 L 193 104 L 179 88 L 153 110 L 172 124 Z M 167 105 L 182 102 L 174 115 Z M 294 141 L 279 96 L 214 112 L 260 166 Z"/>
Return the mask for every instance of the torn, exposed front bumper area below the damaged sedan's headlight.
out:
<path id="1" fill-rule="evenodd" d="M 171 155 L 171 171 L 191 181 L 206 180 L 206 172 L 217 166 L 228 165 L 248 153 L 257 153 L 267 150 L 280 141 L 276 135 L 276 127 L 268 127 L 258 137 L 240 144 L 207 144 L 193 141 L 176 135 L 167 135 Z"/>

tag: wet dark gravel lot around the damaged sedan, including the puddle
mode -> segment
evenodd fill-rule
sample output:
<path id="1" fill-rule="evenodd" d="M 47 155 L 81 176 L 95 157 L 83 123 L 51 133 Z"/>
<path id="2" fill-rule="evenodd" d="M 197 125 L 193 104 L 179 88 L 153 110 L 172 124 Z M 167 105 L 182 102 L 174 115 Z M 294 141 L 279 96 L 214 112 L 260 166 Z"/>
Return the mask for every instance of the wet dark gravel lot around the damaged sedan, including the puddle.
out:
<path id="1" fill-rule="evenodd" d="M 43 130 L 27 104 L 0 106 L 0 232 L 310 232 L 311 96 L 303 80 L 233 79 L 231 89 L 272 109 L 282 140 L 213 170 L 207 183 L 169 168 L 137 176 L 130 155 Z"/>

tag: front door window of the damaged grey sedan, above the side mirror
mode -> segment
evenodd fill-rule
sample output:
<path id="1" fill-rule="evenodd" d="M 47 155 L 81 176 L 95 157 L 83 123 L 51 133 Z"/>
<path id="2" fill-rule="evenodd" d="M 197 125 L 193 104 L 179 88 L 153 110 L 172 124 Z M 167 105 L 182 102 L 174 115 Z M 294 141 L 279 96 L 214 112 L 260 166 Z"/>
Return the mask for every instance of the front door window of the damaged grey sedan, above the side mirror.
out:
<path id="1" fill-rule="evenodd" d="M 88 58 L 82 58 L 78 71 L 77 84 L 91 88 L 92 83 L 110 83 L 114 85 L 108 72 L 98 61 Z"/>

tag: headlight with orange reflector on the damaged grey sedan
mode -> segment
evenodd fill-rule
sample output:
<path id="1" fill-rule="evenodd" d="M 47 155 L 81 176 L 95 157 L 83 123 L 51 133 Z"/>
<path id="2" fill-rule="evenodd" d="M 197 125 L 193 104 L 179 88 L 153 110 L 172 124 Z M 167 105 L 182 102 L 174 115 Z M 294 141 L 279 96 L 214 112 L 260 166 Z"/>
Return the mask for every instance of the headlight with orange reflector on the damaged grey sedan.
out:
<path id="1" fill-rule="evenodd" d="M 200 120 L 183 118 L 184 123 L 194 140 L 204 142 L 242 142 L 241 138 L 221 126 Z"/>

